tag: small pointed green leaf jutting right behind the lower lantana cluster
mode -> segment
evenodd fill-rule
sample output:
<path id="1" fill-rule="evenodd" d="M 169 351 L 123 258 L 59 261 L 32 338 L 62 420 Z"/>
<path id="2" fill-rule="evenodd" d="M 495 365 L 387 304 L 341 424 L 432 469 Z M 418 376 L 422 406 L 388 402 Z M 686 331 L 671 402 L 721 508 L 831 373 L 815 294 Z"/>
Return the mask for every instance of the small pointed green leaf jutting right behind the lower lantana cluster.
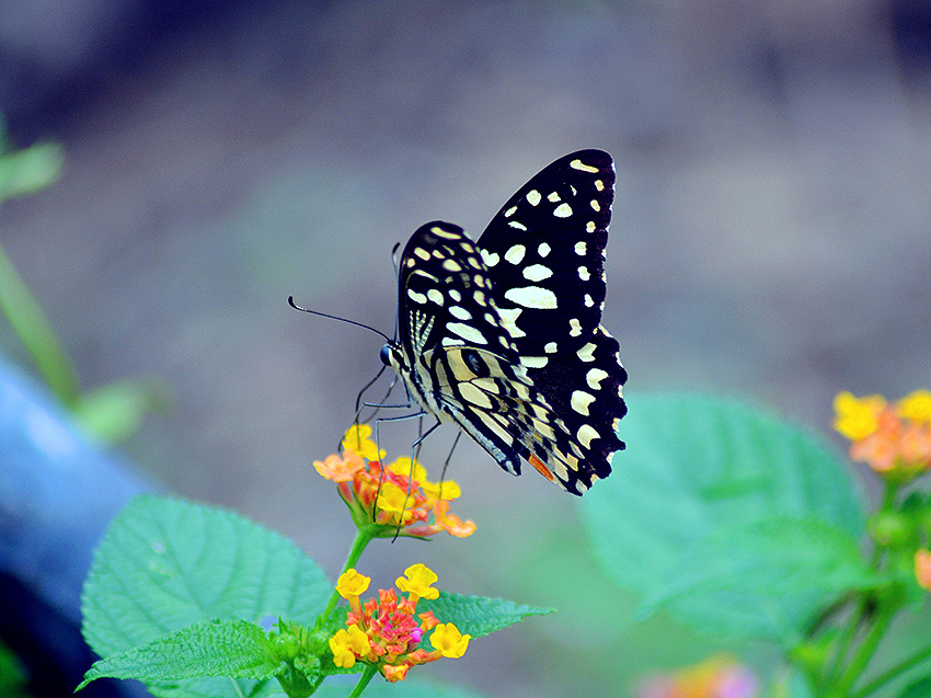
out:
<path id="1" fill-rule="evenodd" d="M 536 608 L 501 598 L 464 596 L 440 592 L 439 598 L 421 599 L 417 613 L 432 610 L 440 622 L 451 622 L 462 634 L 481 638 L 502 628 L 520 622 L 528 616 L 544 616 L 552 608 Z"/>

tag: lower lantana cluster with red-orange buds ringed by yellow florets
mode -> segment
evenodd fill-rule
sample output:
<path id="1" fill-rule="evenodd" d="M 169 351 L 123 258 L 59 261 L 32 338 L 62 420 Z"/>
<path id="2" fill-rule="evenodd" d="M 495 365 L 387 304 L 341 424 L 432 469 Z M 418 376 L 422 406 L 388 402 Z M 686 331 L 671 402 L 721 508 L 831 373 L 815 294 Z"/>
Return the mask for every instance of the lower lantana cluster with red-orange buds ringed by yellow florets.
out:
<path id="1" fill-rule="evenodd" d="M 471 636 L 462 634 L 451 622 L 441 623 L 433 611 L 416 614 L 421 598 L 437 598 L 439 590 L 433 584 L 437 575 L 424 564 L 414 564 L 398 577 L 398 592 L 379 590 L 378 598 L 359 600 L 371 580 L 353 569 L 346 570 L 336 583 L 336 591 L 349 604 L 346 629 L 330 639 L 333 663 L 350 668 L 356 662 L 377 666 L 389 682 L 403 680 L 412 666 L 435 662 L 440 657 L 458 659 L 465 653 Z M 425 633 L 433 630 L 433 650 L 421 645 Z"/>

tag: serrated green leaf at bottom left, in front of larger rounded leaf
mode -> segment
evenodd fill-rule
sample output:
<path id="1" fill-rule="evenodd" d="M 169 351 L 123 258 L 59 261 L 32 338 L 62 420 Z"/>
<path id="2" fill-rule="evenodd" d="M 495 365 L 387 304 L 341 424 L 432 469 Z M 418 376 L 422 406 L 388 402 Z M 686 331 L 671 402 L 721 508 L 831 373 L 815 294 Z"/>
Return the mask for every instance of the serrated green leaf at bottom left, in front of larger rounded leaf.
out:
<path id="1" fill-rule="evenodd" d="M 245 620 L 208 620 L 95 662 L 78 689 L 103 677 L 146 683 L 202 676 L 272 678 L 284 668 L 258 626 Z"/>

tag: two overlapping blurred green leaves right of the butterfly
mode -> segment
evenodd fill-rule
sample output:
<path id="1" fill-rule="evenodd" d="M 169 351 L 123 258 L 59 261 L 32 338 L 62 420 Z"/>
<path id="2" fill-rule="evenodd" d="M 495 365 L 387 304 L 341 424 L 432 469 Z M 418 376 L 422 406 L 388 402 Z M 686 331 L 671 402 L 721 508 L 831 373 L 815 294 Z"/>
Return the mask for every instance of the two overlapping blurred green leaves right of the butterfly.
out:
<path id="1" fill-rule="evenodd" d="M 646 609 L 791 645 L 832 596 L 876 583 L 855 554 L 860 497 L 823 439 L 731 400 L 629 403 L 623 460 L 583 517 L 599 561 Z"/>

